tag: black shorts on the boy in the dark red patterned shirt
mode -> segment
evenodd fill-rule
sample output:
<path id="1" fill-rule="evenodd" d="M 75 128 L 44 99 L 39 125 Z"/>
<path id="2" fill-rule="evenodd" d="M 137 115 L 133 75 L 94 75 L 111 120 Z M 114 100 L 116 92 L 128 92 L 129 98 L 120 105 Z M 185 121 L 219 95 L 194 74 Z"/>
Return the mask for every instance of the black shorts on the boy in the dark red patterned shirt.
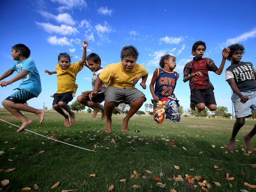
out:
<path id="1" fill-rule="evenodd" d="M 198 103 L 204 103 L 206 106 L 209 106 L 211 104 L 216 105 L 212 88 L 192 89 L 190 93 L 190 101 L 193 105 L 197 105 Z"/>

